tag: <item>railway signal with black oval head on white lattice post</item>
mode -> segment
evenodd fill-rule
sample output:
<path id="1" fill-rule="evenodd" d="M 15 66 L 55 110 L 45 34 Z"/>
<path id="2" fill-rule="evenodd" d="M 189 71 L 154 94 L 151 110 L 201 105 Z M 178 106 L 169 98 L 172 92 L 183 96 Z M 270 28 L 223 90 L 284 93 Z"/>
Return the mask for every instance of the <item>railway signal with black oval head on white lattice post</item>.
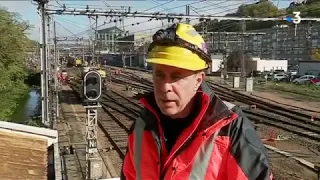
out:
<path id="1" fill-rule="evenodd" d="M 86 109 L 86 180 L 102 177 L 102 160 L 99 158 L 97 122 L 99 102 L 102 94 L 101 75 L 88 71 L 83 77 L 83 105 Z"/>

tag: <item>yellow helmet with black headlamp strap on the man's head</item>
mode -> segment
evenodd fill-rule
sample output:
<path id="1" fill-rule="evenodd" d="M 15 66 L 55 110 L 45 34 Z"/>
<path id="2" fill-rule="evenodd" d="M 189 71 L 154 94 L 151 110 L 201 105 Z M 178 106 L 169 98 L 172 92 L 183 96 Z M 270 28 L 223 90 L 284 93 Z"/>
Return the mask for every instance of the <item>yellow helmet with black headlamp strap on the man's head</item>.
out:
<path id="1" fill-rule="evenodd" d="M 197 71 L 208 68 L 211 57 L 202 36 L 194 27 L 177 23 L 153 35 L 147 62 Z"/>

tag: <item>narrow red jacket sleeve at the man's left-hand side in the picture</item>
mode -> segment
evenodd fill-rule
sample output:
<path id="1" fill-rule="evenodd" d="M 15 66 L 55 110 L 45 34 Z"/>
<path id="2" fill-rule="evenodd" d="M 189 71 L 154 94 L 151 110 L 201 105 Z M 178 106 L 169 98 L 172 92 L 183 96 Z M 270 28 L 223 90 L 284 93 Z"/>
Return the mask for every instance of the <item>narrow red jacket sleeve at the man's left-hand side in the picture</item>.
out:
<path id="1" fill-rule="evenodd" d="M 128 135 L 128 145 L 127 145 L 127 152 L 124 156 L 122 169 L 121 169 L 121 180 L 135 180 L 136 179 L 136 171 L 134 167 L 134 159 L 133 159 L 133 129 L 134 129 L 135 123 L 132 124 L 130 128 L 130 132 Z"/>

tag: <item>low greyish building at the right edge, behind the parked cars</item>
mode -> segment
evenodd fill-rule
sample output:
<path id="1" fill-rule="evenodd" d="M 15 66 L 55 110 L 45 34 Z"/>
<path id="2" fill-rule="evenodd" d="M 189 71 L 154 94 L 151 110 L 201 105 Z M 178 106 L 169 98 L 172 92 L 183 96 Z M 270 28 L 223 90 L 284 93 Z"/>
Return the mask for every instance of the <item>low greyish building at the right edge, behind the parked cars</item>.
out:
<path id="1" fill-rule="evenodd" d="M 312 74 L 319 76 L 320 74 L 320 61 L 299 61 L 299 75 Z"/>

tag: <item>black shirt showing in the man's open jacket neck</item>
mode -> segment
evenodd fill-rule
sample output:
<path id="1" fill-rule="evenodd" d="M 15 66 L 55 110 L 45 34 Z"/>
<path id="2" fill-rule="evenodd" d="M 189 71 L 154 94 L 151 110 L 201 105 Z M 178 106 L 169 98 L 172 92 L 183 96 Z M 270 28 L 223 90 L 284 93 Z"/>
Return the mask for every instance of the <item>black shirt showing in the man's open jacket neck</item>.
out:
<path id="1" fill-rule="evenodd" d="M 159 109 L 160 122 L 164 132 L 168 152 L 171 151 L 181 132 L 186 129 L 199 114 L 200 106 L 197 103 L 199 102 L 198 99 L 199 98 L 196 97 L 191 113 L 185 118 L 171 119 L 170 117 L 163 115 Z"/>

